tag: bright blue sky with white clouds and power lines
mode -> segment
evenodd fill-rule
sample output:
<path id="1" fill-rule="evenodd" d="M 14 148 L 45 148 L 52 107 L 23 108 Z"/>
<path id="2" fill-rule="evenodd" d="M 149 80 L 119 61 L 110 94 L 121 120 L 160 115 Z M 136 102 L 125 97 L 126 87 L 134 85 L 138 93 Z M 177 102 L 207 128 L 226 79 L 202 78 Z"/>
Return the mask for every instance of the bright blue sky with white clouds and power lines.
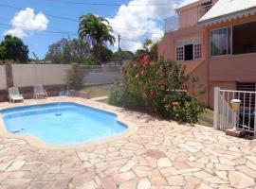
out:
<path id="1" fill-rule="evenodd" d="M 7 34 L 19 37 L 28 45 L 30 58 L 34 53 L 44 59 L 50 44 L 62 38 L 77 38 L 79 17 L 93 13 L 109 20 L 113 35 L 121 36 L 122 50 L 136 51 L 147 38 L 160 40 L 164 19 L 175 20 L 174 9 L 182 1 L 0 0 L 0 41 Z M 116 51 L 118 43 L 111 49 Z"/>

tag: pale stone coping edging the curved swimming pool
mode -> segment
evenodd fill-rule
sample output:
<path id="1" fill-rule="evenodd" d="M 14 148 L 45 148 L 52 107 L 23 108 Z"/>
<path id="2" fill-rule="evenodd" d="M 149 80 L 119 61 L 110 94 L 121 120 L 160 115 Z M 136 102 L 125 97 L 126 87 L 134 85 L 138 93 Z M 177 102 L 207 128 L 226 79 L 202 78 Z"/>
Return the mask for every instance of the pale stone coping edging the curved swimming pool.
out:
<path id="1" fill-rule="evenodd" d="M 49 100 L 46 100 L 44 102 L 40 101 L 29 101 L 28 103 L 20 103 L 20 104 L 10 104 L 11 106 L 9 107 L 1 107 L 0 111 L 6 110 L 9 108 L 17 108 L 17 107 L 27 107 L 27 106 L 32 106 L 32 105 L 44 105 L 44 104 L 50 104 L 50 103 L 61 103 L 61 102 L 69 102 L 69 103 L 77 103 L 82 106 L 86 106 L 89 108 L 97 109 L 102 112 L 109 112 L 117 115 L 117 121 L 119 121 L 121 124 L 124 124 L 127 126 L 127 129 L 121 133 L 119 133 L 116 136 L 108 137 L 105 139 L 98 139 L 98 140 L 93 140 L 91 142 L 84 142 L 81 144 L 74 144 L 74 145 L 53 145 L 53 144 L 47 144 L 45 141 L 41 140 L 39 137 L 28 135 L 28 134 L 15 134 L 15 133 L 10 133 L 5 126 L 5 122 L 2 118 L 2 115 L 0 113 L 0 136 L 5 137 L 5 138 L 15 138 L 15 139 L 22 139 L 27 142 L 28 145 L 38 147 L 38 148 L 44 148 L 44 149 L 77 149 L 77 148 L 82 148 L 82 147 L 89 147 L 89 146 L 97 146 L 101 144 L 107 144 L 109 142 L 113 142 L 116 140 L 124 139 L 130 136 L 131 134 L 135 133 L 137 131 L 137 126 L 135 123 L 125 119 L 125 115 L 122 112 L 117 112 L 114 110 L 110 109 L 104 109 L 101 106 L 94 105 L 95 102 L 90 103 L 90 100 L 88 99 L 82 99 L 79 97 L 72 97 L 70 99 L 66 98 L 51 98 L 49 97 Z M 97 102 L 99 103 L 99 102 Z M 109 105 L 106 105 L 109 106 Z"/>

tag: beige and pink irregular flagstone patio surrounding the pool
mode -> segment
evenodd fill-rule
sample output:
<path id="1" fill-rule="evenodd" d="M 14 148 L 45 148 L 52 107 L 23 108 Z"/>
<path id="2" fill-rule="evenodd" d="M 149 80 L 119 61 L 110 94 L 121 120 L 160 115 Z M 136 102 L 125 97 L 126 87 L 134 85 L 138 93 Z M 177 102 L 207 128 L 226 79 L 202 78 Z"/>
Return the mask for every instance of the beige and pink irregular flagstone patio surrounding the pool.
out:
<path id="1" fill-rule="evenodd" d="M 56 99 L 60 100 L 48 98 L 40 103 Z M 0 189 L 256 189 L 256 141 L 83 101 L 124 113 L 137 124 L 137 132 L 107 144 L 66 150 L 1 137 Z M 25 102 L 31 103 L 38 101 Z M 9 106 L 0 104 L 0 108 Z"/>

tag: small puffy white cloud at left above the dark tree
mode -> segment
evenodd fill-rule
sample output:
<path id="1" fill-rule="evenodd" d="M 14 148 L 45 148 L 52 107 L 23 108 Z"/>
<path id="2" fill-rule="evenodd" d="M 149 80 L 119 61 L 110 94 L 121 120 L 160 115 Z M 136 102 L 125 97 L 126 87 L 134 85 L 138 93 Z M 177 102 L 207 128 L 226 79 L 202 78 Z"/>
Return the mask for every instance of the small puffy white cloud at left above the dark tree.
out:
<path id="1" fill-rule="evenodd" d="M 4 35 L 12 35 L 24 38 L 33 31 L 44 31 L 47 28 L 48 20 L 43 12 L 35 13 L 34 9 L 24 9 L 15 14 L 10 24 L 13 28 L 5 31 Z"/>

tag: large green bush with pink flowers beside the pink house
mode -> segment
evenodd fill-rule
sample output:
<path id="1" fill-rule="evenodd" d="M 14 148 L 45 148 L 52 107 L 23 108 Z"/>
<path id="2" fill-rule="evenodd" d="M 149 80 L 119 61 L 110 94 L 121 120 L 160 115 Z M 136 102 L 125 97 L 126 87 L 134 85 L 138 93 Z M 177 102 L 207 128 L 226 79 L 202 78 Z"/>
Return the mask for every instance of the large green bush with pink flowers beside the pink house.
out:
<path id="1" fill-rule="evenodd" d="M 189 83 L 181 64 L 142 56 L 125 66 L 122 80 L 112 89 L 110 104 L 194 123 L 204 105 L 187 92 Z"/>

